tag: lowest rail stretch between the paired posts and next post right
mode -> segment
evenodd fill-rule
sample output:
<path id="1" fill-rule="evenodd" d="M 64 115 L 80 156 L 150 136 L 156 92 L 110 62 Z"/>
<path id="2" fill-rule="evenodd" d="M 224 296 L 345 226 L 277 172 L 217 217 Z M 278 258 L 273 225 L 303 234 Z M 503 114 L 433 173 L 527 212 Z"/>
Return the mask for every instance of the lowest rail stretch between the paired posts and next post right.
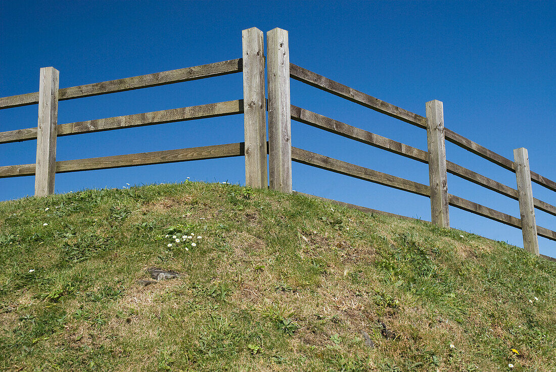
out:
<path id="1" fill-rule="evenodd" d="M 413 192 L 413 194 L 429 196 L 430 188 L 422 183 L 405 180 L 404 178 L 389 175 L 387 173 L 375 171 L 369 168 L 354 165 L 345 161 L 337 160 L 318 153 L 301 150 L 301 148 L 291 148 L 291 158 L 293 161 L 321 168 L 327 171 L 340 173 L 342 175 L 359 178 L 360 180 L 378 183 L 379 185 L 393 187 L 394 189 Z"/>

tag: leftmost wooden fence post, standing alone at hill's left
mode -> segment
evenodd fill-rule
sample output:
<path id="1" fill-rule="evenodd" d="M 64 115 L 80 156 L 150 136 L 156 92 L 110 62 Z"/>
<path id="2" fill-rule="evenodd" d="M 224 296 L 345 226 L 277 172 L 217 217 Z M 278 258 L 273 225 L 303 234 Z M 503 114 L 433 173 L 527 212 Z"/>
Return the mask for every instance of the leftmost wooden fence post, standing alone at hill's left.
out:
<path id="1" fill-rule="evenodd" d="M 58 122 L 58 78 L 54 67 L 42 67 L 38 92 L 37 162 L 35 196 L 54 194 L 56 135 Z"/>

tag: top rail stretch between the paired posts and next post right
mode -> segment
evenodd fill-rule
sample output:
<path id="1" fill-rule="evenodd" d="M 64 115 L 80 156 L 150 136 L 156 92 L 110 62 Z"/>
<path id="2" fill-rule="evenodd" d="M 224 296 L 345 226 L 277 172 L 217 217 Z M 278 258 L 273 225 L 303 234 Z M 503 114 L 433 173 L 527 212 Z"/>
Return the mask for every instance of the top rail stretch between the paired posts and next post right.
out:
<path id="1" fill-rule="evenodd" d="M 340 84 L 334 80 L 330 80 L 324 76 L 318 75 L 306 68 L 296 66 L 290 63 L 290 76 L 297 81 L 304 82 L 325 92 L 345 98 L 351 102 L 359 103 L 359 105 L 371 108 L 372 110 L 384 113 L 388 116 L 395 117 L 406 123 L 413 124 L 420 128 L 426 128 L 426 120 L 423 116 L 404 110 L 401 107 L 394 106 L 391 103 L 384 102 L 369 96 L 363 92 L 357 91 L 346 85 Z"/>

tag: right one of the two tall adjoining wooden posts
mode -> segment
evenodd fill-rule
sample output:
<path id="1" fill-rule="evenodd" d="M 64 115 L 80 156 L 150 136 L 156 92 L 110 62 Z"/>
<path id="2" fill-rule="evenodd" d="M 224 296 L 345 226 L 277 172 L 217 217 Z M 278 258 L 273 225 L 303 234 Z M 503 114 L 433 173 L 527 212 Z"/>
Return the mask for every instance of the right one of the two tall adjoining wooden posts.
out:
<path id="1" fill-rule="evenodd" d="M 287 31 L 266 33 L 270 188 L 291 192 L 290 52 Z"/>

